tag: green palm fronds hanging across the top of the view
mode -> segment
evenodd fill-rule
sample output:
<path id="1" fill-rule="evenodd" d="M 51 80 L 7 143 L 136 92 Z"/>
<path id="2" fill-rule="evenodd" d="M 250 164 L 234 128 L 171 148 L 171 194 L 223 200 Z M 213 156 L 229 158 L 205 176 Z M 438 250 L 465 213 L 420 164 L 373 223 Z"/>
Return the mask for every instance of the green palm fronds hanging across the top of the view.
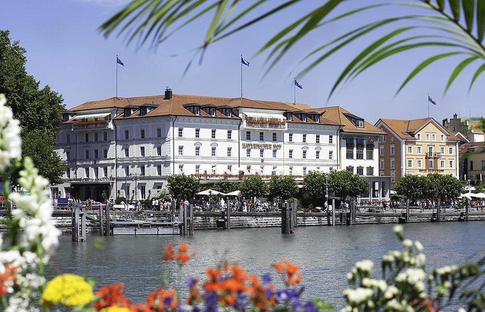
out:
<path id="1" fill-rule="evenodd" d="M 193 24 L 200 27 L 197 21 L 202 20 L 208 25 L 203 43 L 198 47 L 198 53 L 202 57 L 209 45 L 257 23 L 274 23 L 275 14 L 294 10 L 302 2 L 285 0 L 269 3 L 269 0 L 262 0 L 238 8 L 244 2 L 133 0 L 101 25 L 100 31 L 106 37 L 113 32 L 124 33 L 128 43 L 135 39 L 140 44 L 151 41 L 153 45 L 158 45 L 180 29 Z M 340 5 L 343 3 L 347 7 L 344 6 L 341 10 Z M 365 45 L 336 78 L 330 96 L 342 82 L 355 79 L 379 62 L 422 47 L 438 47 L 443 51 L 429 49 L 434 54 L 418 63 L 397 92 L 423 69 L 445 58 L 459 60 L 451 72 L 445 92 L 467 66 L 476 63 L 479 65 L 471 78 L 469 88 L 485 71 L 485 47 L 482 43 L 485 34 L 485 1 L 415 0 L 369 4 L 361 0 L 326 0 L 316 2 L 314 6 L 302 16 L 295 16 L 295 19 L 280 19 L 284 23 L 280 25 L 281 30 L 257 51 L 257 55 L 267 55 L 268 70 L 280 62 L 290 49 L 301 47 L 301 42 L 305 39 L 314 40 L 315 32 L 322 32 L 324 26 L 331 26 L 338 21 L 357 25 L 343 34 L 335 33 L 334 30 L 338 29 L 335 27 L 330 30 L 331 36 L 320 34 L 321 38 L 331 37 L 331 41 L 323 39 L 318 42 L 314 49 L 304 54 L 305 62 L 301 62 L 303 67 L 298 69 L 298 76 L 302 77 L 349 44 L 367 36 L 370 43 Z M 403 14 L 406 8 L 413 10 L 412 13 Z M 366 11 L 374 10 L 378 14 L 377 20 L 369 21 L 367 18 L 358 17 L 362 13 L 368 13 Z M 333 14 L 334 11 L 337 13 Z M 208 19 L 207 15 L 212 15 L 212 18 Z M 376 32 L 379 31 L 384 31 L 384 34 L 378 34 L 376 38 Z M 197 54 L 194 57 L 198 57 Z"/>

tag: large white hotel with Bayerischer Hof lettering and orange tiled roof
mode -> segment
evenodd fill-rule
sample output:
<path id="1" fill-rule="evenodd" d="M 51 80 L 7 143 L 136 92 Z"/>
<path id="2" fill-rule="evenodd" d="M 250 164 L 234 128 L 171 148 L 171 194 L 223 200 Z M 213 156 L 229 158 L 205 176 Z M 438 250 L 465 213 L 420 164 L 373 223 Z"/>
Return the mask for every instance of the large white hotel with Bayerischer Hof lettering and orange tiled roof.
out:
<path id="1" fill-rule="evenodd" d="M 107 191 L 110 197 L 139 199 L 166 187 L 172 174 L 196 175 L 206 183 L 254 174 L 301 180 L 312 170 L 347 169 L 371 179 L 368 196 L 385 198 L 389 183 L 374 176 L 377 144 L 371 144 L 383 132 L 360 120 L 340 107 L 311 109 L 170 89 L 164 95 L 89 101 L 64 114 L 56 149 L 66 173 L 52 192 L 99 199 Z"/>

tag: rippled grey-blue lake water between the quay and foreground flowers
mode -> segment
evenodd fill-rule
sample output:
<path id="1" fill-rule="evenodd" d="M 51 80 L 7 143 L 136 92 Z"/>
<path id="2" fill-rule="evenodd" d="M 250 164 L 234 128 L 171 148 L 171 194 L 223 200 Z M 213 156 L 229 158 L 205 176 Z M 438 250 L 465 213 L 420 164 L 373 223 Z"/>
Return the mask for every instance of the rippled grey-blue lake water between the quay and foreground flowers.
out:
<path id="1" fill-rule="evenodd" d="M 284 235 L 279 228 L 196 231 L 185 237 L 90 235 L 79 243 L 64 235 L 46 272 L 49 278 L 60 273 L 87 275 L 99 285 L 123 281 L 126 295 L 141 302 L 162 287 L 164 280 L 171 288 L 180 288 L 186 277 L 204 277 L 208 266 L 223 259 L 238 262 L 249 273 L 270 272 L 275 277 L 270 265 L 284 258 L 301 266 L 306 297 L 342 306 L 345 274 L 356 261 L 380 263 L 388 250 L 401 249 L 393 226 L 300 227 L 295 234 Z M 407 238 L 423 243 L 428 268 L 461 264 L 485 246 L 485 222 L 418 223 L 404 225 L 404 229 Z M 197 255 L 180 270 L 162 257 L 165 244 L 181 241 Z"/>

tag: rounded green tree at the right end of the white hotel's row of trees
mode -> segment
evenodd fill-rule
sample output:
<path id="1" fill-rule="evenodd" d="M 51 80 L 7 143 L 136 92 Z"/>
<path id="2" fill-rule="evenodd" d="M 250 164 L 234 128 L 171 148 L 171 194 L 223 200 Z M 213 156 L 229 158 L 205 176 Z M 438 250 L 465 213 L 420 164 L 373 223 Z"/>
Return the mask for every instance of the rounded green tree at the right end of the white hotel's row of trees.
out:
<path id="1" fill-rule="evenodd" d="M 369 181 L 347 170 L 334 170 L 328 174 L 328 188 L 335 196 L 345 200 L 369 191 Z"/>

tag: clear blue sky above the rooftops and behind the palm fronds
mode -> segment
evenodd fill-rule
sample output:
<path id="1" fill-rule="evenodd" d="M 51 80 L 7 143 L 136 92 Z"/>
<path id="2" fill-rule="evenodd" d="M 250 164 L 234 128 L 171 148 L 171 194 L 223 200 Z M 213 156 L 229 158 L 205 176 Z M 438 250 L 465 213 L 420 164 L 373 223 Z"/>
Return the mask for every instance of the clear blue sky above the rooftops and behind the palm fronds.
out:
<path id="1" fill-rule="evenodd" d="M 339 11 L 349 9 L 350 1 Z M 119 96 L 162 94 L 165 86 L 175 93 L 237 97 L 240 94 L 239 55 L 251 61 L 244 68 L 244 95 L 249 98 L 293 101 L 292 70 L 306 52 L 328 42 L 338 34 L 377 20 L 384 9 L 374 10 L 333 23 L 300 41 L 263 80 L 265 56 L 253 58 L 258 48 L 281 27 L 301 17 L 319 1 L 308 0 L 267 21 L 252 26 L 212 45 L 202 65 L 193 66 L 185 77 L 183 70 L 200 44 L 208 18 L 178 32 L 157 50 L 143 46 L 126 46 L 122 38 L 105 39 L 98 26 L 121 9 L 127 0 L 23 0 L 5 1 L 0 12 L 0 29 L 9 29 L 11 38 L 20 40 L 27 49 L 27 70 L 62 93 L 66 106 L 115 95 L 115 56 L 125 67 L 118 72 Z M 373 1 L 368 1 L 373 2 Z M 275 1 L 274 3 L 277 3 Z M 416 9 L 402 9 L 404 14 Z M 459 76 L 445 97 L 443 90 L 458 59 L 435 63 L 413 80 L 396 98 L 403 79 L 422 60 L 431 56 L 432 48 L 416 49 L 393 57 L 373 67 L 353 82 L 341 87 L 327 101 L 329 90 L 343 68 L 370 40 L 389 32 L 380 30 L 356 41 L 319 65 L 301 79 L 304 90 L 297 90 L 297 101 L 311 107 L 340 105 L 370 122 L 378 118 L 422 118 L 427 114 L 427 93 L 437 100 L 431 116 L 441 121 L 454 112 L 462 117 L 482 116 L 485 75 L 468 94 L 474 66 Z M 440 50 L 442 51 L 442 50 Z M 171 55 L 178 54 L 177 57 Z"/>

